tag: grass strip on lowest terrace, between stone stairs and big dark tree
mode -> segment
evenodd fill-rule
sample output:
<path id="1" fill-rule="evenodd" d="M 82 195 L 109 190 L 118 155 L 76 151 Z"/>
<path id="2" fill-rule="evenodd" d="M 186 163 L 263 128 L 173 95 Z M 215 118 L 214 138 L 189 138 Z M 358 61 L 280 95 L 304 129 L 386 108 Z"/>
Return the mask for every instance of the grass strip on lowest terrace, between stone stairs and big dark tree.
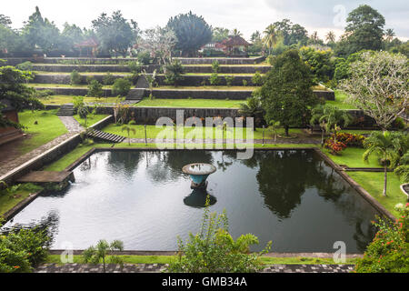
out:
<path id="1" fill-rule="evenodd" d="M 244 100 L 214 99 L 153 99 L 145 98 L 137 107 L 192 107 L 192 108 L 238 108 Z"/>

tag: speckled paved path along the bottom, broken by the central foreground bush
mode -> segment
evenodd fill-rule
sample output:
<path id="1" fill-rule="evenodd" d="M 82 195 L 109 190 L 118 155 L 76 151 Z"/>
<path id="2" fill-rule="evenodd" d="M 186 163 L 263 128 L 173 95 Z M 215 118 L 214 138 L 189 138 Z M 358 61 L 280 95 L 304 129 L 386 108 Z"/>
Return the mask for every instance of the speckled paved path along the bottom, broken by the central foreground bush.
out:
<path id="1" fill-rule="evenodd" d="M 160 273 L 165 270 L 162 264 L 124 264 L 107 265 L 107 273 Z M 272 265 L 261 273 L 349 273 L 354 265 Z M 102 265 L 90 264 L 45 264 L 35 269 L 35 273 L 103 273 Z"/>

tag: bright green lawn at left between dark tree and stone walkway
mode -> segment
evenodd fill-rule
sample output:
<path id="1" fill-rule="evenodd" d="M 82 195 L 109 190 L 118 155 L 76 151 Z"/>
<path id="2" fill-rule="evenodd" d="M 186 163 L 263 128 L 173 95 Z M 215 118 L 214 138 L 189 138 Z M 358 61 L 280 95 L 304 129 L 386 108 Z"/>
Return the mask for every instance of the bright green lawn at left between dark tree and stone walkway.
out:
<path id="1" fill-rule="evenodd" d="M 55 137 L 68 132 L 65 125 L 55 115 L 55 110 L 39 110 L 35 111 L 34 114 L 31 110 L 25 110 L 20 112 L 18 117 L 20 123 L 26 126 L 25 133 L 30 135 L 18 148 L 21 154 L 28 153 L 38 146 L 43 146 Z M 34 124 L 35 120 L 38 122 L 37 125 Z"/>

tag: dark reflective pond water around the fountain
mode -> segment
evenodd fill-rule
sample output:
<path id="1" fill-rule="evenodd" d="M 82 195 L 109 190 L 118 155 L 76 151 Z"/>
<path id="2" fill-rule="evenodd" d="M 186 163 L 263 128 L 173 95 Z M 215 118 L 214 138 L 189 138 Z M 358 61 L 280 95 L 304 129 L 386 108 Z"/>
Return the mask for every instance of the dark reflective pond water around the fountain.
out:
<path id="1" fill-rule="evenodd" d="M 209 163 L 211 211 L 226 209 L 234 237 L 252 233 L 261 250 L 363 253 L 377 214 L 314 151 L 255 151 L 237 160 L 229 151 L 100 152 L 75 169 L 63 193 L 39 196 L 5 227 L 50 226 L 52 248 L 75 249 L 120 239 L 125 249 L 175 250 L 176 236 L 197 233 L 205 196 L 193 193 L 182 167 Z"/>

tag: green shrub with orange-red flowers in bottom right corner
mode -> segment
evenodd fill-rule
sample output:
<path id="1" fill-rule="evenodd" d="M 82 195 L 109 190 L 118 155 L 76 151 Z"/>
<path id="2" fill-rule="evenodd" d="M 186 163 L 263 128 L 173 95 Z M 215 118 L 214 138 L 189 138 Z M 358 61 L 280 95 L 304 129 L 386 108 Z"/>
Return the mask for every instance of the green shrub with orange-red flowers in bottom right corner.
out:
<path id="1" fill-rule="evenodd" d="M 397 205 L 401 216 L 395 222 L 380 220 L 373 242 L 358 259 L 358 273 L 409 273 L 409 203 Z"/>

